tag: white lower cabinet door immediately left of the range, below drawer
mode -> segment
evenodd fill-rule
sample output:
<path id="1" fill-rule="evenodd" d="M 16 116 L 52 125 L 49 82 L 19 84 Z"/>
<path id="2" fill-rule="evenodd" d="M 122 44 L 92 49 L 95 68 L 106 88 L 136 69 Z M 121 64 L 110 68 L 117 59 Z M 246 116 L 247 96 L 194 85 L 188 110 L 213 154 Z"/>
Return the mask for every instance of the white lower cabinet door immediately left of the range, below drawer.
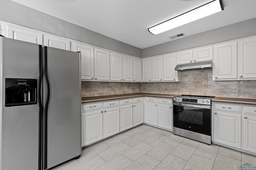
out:
<path id="1" fill-rule="evenodd" d="M 158 126 L 172 130 L 172 106 L 158 104 Z"/>

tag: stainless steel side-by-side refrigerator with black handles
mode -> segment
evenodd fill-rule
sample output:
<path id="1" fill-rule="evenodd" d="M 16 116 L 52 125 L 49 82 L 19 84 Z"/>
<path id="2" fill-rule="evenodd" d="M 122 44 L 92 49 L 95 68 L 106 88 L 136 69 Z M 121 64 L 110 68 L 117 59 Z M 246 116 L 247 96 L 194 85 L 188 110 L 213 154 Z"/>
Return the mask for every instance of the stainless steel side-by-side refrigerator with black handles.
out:
<path id="1" fill-rule="evenodd" d="M 0 37 L 0 170 L 81 154 L 80 53 Z"/>

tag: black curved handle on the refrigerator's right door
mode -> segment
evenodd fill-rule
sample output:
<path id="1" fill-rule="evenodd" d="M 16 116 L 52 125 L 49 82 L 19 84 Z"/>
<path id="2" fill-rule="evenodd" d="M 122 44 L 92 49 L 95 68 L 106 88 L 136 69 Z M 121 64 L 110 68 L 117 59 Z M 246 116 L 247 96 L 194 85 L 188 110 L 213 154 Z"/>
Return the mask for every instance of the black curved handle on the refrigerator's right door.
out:
<path id="1" fill-rule="evenodd" d="M 50 101 L 50 82 L 48 77 L 48 63 L 47 63 L 47 47 L 44 47 L 44 77 L 46 80 L 46 103 L 44 106 L 44 169 L 47 169 L 47 119 L 48 119 L 48 106 Z"/>

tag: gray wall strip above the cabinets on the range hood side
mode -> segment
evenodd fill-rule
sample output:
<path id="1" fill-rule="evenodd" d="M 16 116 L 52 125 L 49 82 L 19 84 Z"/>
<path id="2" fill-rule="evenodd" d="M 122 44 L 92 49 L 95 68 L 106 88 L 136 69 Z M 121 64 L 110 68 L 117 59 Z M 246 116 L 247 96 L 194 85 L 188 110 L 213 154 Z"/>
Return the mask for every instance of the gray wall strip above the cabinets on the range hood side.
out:
<path id="1" fill-rule="evenodd" d="M 256 18 L 142 49 L 142 58 L 256 35 Z"/>

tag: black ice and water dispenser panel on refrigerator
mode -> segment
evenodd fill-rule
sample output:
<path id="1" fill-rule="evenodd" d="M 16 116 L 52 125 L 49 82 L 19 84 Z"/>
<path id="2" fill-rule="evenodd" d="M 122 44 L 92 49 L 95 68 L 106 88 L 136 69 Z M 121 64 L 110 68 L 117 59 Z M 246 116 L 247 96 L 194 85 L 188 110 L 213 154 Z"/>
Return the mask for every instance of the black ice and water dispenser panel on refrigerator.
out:
<path id="1" fill-rule="evenodd" d="M 36 79 L 6 78 L 4 106 L 36 104 L 36 90 Z"/>

